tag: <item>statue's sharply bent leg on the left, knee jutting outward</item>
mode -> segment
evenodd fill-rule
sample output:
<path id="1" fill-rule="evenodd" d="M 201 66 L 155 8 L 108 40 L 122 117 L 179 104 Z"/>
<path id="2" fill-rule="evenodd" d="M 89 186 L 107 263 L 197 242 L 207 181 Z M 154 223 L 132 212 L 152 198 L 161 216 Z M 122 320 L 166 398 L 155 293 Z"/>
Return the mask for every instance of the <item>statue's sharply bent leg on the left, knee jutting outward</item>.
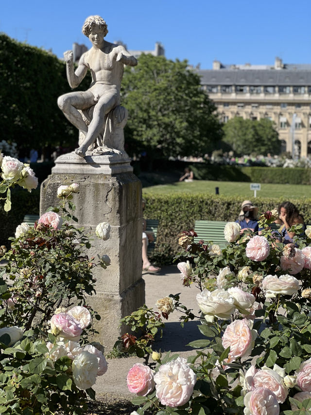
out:
<path id="1" fill-rule="evenodd" d="M 58 97 L 57 105 L 63 111 L 70 123 L 86 135 L 87 126 L 78 109 L 85 109 L 94 105 L 94 95 L 87 91 L 69 92 L 68 94 Z"/>

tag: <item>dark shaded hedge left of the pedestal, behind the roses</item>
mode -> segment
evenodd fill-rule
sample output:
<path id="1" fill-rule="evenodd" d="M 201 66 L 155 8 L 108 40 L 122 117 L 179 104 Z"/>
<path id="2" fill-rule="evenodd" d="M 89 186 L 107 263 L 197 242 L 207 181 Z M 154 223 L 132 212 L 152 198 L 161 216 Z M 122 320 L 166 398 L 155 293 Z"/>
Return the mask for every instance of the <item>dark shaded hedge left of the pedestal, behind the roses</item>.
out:
<path id="1" fill-rule="evenodd" d="M 40 189 L 26 192 L 24 189 L 16 188 L 12 191 L 12 209 L 4 212 L 3 203 L 0 204 L 0 245 L 9 248 L 8 237 L 14 236 L 17 225 L 19 225 L 26 214 L 39 215 Z"/>

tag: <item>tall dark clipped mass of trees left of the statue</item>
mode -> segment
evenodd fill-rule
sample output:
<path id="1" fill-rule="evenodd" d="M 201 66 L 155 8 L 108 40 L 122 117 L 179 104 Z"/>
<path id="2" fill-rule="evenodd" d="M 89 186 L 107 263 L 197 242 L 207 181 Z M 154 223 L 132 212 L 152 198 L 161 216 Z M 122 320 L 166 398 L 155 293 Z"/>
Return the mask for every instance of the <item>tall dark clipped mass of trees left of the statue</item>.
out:
<path id="1" fill-rule="evenodd" d="M 35 148 L 76 144 L 77 130 L 57 107 L 57 97 L 70 92 L 65 62 L 0 34 L 0 79 L 3 139 Z"/>

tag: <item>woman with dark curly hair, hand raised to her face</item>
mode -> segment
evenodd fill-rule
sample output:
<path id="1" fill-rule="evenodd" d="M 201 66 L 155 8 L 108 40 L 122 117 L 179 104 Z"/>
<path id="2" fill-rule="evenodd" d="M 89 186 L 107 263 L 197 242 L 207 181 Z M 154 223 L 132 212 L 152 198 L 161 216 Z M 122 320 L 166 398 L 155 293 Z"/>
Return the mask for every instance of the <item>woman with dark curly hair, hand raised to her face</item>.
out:
<path id="1" fill-rule="evenodd" d="M 306 229 L 304 218 L 300 215 L 296 206 L 289 202 L 283 202 L 278 207 L 279 217 L 276 220 L 276 223 L 281 224 L 279 229 L 279 234 L 281 236 L 283 243 L 289 244 L 293 243 L 293 238 L 296 235 L 294 232 L 289 232 L 289 228 L 293 225 L 301 223 L 303 225 L 303 232 Z"/>

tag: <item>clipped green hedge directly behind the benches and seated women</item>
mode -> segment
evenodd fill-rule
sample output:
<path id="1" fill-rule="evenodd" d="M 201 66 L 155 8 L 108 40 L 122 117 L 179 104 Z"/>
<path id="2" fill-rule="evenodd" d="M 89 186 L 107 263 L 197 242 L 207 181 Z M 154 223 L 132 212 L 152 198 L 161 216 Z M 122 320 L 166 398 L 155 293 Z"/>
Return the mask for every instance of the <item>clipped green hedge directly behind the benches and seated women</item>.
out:
<path id="1" fill-rule="evenodd" d="M 159 220 L 155 250 L 150 259 L 160 264 L 172 263 L 174 255 L 180 250 L 177 235 L 194 229 L 195 220 L 235 221 L 243 201 L 243 198 L 209 194 L 144 195 L 144 198 L 144 217 Z M 280 198 L 256 198 L 256 206 L 261 214 L 276 208 L 283 201 Z M 311 199 L 291 201 L 304 216 L 305 222 L 311 223 Z"/>

